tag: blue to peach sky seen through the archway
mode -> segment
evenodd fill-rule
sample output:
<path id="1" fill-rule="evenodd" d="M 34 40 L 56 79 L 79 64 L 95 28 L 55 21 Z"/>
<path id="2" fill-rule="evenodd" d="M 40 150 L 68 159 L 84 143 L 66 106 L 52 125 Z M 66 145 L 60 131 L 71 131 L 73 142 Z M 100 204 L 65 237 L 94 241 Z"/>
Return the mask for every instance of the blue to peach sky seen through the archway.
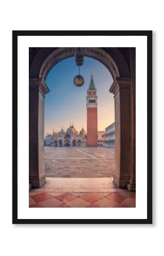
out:
<path id="1" fill-rule="evenodd" d="M 78 75 L 75 58 L 70 57 L 55 65 L 46 78 L 50 92 L 45 98 L 45 133 L 67 129 L 70 122 L 74 123 L 77 131 L 87 127 L 86 96 L 93 75 L 98 95 L 98 130 L 114 122 L 114 99 L 109 88 L 113 82 L 110 72 L 99 61 L 84 57 L 80 67 L 80 75 L 84 77 L 84 85 L 74 85 L 74 77 Z"/>

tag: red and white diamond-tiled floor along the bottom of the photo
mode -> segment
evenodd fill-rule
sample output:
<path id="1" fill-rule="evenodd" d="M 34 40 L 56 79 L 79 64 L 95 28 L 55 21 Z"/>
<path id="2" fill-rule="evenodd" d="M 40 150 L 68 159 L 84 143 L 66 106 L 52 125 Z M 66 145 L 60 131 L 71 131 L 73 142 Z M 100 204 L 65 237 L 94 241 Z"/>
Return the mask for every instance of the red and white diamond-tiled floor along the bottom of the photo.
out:
<path id="1" fill-rule="evenodd" d="M 136 207 L 136 193 L 125 190 L 124 192 L 106 193 L 54 193 L 54 192 L 29 192 L 29 207 Z"/>

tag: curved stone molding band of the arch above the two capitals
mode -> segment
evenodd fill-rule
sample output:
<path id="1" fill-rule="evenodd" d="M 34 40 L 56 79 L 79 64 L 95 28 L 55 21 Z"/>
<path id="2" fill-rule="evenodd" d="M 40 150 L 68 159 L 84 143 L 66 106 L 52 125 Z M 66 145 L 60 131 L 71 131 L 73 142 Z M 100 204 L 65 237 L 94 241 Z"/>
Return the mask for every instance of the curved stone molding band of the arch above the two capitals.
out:
<path id="1" fill-rule="evenodd" d="M 46 79 L 46 76 L 48 75 L 50 69 L 55 64 L 68 57 L 75 56 L 75 51 L 75 47 L 61 47 L 55 49 L 55 51 L 53 51 L 42 64 L 39 77 L 43 77 L 44 79 Z M 83 54 L 84 56 L 92 57 L 93 59 L 96 59 L 100 61 L 103 65 L 105 65 L 105 67 L 109 69 L 111 75 L 113 76 L 113 79 L 115 79 L 115 77 L 119 77 L 119 71 L 118 67 L 115 64 L 115 61 L 107 52 L 103 51 L 103 49 L 98 47 L 84 47 Z"/>

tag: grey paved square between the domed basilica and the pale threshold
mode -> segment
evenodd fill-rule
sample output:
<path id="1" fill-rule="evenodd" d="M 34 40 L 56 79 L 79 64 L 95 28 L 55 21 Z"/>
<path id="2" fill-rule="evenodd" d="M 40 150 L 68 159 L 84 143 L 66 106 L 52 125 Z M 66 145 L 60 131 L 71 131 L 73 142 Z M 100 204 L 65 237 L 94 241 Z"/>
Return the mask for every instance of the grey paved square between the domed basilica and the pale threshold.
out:
<path id="1" fill-rule="evenodd" d="M 114 148 L 45 147 L 46 177 L 113 177 Z"/>

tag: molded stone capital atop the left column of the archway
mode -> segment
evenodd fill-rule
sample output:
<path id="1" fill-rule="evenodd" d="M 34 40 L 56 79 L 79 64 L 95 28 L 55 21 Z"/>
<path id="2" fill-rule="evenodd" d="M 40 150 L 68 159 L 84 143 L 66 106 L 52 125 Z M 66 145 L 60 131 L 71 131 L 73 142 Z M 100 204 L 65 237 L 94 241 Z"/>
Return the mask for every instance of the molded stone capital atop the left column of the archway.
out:
<path id="1" fill-rule="evenodd" d="M 29 90 L 39 90 L 44 97 L 46 93 L 50 92 L 43 78 L 29 79 Z"/>

